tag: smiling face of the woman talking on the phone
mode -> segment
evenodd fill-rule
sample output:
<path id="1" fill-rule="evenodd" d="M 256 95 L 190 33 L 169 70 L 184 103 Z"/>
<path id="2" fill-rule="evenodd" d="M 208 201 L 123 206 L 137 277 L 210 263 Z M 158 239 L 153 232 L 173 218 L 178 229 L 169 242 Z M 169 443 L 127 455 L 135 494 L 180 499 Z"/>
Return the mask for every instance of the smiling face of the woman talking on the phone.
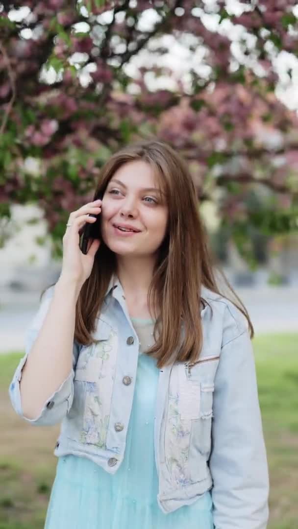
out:
<path id="1" fill-rule="evenodd" d="M 102 238 L 121 256 L 150 256 L 164 240 L 168 207 L 149 163 L 127 162 L 112 176 L 102 201 Z M 116 226 L 137 231 L 121 231 Z"/>

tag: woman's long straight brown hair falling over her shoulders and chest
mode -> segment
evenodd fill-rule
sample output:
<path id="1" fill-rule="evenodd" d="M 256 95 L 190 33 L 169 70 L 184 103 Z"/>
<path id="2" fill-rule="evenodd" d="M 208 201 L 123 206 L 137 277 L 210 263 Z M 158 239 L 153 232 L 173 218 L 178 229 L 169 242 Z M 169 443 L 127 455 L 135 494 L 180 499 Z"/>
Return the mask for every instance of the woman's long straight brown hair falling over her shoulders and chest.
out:
<path id="1" fill-rule="evenodd" d="M 121 149 L 105 163 L 101 170 L 94 198 L 102 196 L 116 170 L 124 163 L 142 160 L 149 163 L 166 193 L 168 205 L 167 232 L 159 248 L 159 256 L 148 291 L 148 307 L 156 316 L 156 342 L 147 354 L 157 359 L 161 368 L 173 360 L 194 362 L 203 343 L 200 303 L 201 285 L 220 294 L 214 268 L 221 273 L 225 284 L 237 298 L 230 300 L 246 316 L 250 338 L 254 329 L 248 312 L 232 289 L 209 248 L 205 226 L 198 211 L 195 186 L 186 162 L 166 143 L 149 140 Z M 101 311 L 106 290 L 116 273 L 116 256 L 102 241 L 94 259 L 94 266 L 77 300 L 75 339 L 84 345 L 95 342 L 92 333 L 96 316 Z M 227 297 L 227 296 L 224 296 Z M 209 305 L 209 304 L 208 304 Z M 158 312 L 158 315 L 157 315 Z M 181 340 L 181 324 L 184 338 Z"/>

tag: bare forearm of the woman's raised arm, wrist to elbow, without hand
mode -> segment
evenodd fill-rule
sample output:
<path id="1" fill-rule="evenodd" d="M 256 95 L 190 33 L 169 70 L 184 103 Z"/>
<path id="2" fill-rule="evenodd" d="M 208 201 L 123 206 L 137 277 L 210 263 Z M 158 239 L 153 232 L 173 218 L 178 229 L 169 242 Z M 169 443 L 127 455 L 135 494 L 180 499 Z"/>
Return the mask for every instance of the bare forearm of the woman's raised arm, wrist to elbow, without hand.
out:
<path id="1" fill-rule="evenodd" d="M 73 367 L 78 294 L 76 282 L 59 278 L 48 313 L 22 371 L 20 390 L 26 418 L 33 419 L 40 414 L 46 400 L 58 390 Z"/>

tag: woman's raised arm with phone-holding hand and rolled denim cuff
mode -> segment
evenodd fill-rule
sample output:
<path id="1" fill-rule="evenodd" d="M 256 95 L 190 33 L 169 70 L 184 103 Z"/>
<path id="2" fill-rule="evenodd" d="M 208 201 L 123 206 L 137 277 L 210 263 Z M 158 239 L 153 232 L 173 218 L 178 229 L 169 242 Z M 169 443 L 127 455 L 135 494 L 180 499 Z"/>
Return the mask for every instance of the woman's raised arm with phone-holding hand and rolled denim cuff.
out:
<path id="1" fill-rule="evenodd" d="M 73 399 L 74 342 L 76 303 L 90 276 L 100 241 L 88 242 L 83 254 L 79 249 L 79 231 L 86 222 L 95 222 L 101 212 L 101 200 L 88 203 L 70 214 L 63 238 L 63 261 L 60 278 L 44 299 L 10 385 L 15 411 L 34 424 L 54 424 L 67 413 Z M 47 402 L 49 401 L 49 402 Z M 53 411 L 52 408 L 53 407 Z"/>

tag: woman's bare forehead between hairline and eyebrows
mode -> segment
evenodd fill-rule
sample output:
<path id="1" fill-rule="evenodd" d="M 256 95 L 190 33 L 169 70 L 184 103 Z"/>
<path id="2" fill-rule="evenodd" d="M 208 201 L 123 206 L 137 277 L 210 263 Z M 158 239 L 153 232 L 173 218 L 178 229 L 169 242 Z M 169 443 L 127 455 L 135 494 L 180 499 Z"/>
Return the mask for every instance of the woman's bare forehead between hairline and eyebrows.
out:
<path id="1" fill-rule="evenodd" d="M 126 187 L 130 188 L 157 188 L 160 189 L 161 178 L 148 162 L 143 160 L 134 160 L 124 163 L 117 169 L 111 180 L 117 179 Z"/>

